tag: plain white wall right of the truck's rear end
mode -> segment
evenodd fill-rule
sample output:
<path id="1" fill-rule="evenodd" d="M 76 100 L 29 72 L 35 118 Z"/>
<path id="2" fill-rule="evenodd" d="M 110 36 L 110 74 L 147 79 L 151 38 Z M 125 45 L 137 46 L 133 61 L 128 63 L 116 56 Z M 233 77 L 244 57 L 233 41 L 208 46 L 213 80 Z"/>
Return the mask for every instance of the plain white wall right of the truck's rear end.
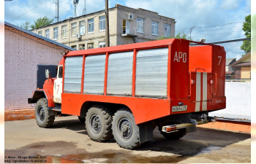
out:
<path id="1" fill-rule="evenodd" d="M 251 120 L 251 82 L 226 82 L 226 109 L 210 112 L 210 116 Z"/>

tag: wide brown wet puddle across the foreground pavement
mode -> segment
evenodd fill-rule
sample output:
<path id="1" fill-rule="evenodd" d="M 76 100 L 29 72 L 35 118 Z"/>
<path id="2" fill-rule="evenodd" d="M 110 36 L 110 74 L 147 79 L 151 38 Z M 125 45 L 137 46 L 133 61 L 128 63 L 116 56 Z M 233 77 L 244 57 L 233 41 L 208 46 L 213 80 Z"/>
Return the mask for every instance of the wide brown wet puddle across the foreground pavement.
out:
<path id="1" fill-rule="evenodd" d="M 181 150 L 172 147 L 159 147 L 159 149 L 147 149 L 151 153 L 158 152 L 157 157 L 143 157 L 140 154 L 132 154 L 135 151 L 124 150 L 104 150 L 102 152 L 86 152 L 85 149 L 78 149 L 73 142 L 55 141 L 55 142 L 40 142 L 29 144 L 26 147 L 18 149 L 5 150 L 6 157 L 16 157 L 15 160 L 20 160 L 20 157 L 39 157 L 29 160 L 26 163 L 178 163 L 181 160 L 186 160 L 188 157 L 208 153 L 222 147 L 201 147 L 200 149 Z M 141 151 L 141 150 L 139 150 Z M 165 156 L 161 156 L 165 154 Z M 170 153 L 170 156 L 166 156 Z M 17 159 L 18 158 L 18 159 Z M 24 160 L 21 158 L 21 160 Z M 13 162 L 13 161 L 12 161 Z M 8 163 L 8 162 L 5 162 Z M 17 162 L 16 162 L 17 163 Z"/>

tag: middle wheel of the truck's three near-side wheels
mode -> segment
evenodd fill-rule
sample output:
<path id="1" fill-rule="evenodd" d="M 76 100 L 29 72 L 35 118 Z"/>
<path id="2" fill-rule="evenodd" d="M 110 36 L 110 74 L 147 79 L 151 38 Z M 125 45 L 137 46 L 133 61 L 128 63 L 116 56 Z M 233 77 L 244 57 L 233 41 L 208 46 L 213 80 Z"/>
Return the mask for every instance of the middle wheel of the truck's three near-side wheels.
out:
<path id="1" fill-rule="evenodd" d="M 104 142 L 113 138 L 112 115 L 105 106 L 92 106 L 86 113 L 86 130 L 93 141 Z"/>

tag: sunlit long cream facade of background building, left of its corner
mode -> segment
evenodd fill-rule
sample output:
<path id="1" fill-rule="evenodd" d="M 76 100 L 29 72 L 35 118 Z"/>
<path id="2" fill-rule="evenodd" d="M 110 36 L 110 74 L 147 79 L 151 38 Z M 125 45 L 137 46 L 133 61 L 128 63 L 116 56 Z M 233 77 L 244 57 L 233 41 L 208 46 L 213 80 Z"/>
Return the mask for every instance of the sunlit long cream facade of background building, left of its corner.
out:
<path id="1" fill-rule="evenodd" d="M 110 45 L 116 45 L 116 8 L 111 8 L 109 9 L 109 19 L 110 19 Z M 99 11 L 99 12 L 94 12 L 91 13 L 89 15 L 83 15 L 80 17 L 75 17 L 72 19 L 68 19 L 68 20 L 64 20 L 61 21 L 60 23 L 53 23 L 50 26 L 45 26 L 42 28 L 37 28 L 34 29 L 33 32 L 38 34 L 39 31 L 42 31 L 42 36 L 45 36 L 45 30 L 50 29 L 50 39 L 55 40 L 56 42 L 59 42 L 61 44 L 65 44 L 69 47 L 72 46 L 77 46 L 77 50 L 78 50 L 78 46 L 80 44 L 85 44 L 85 48 L 87 49 L 87 44 L 91 44 L 94 43 L 94 48 L 98 48 L 99 47 L 99 42 L 104 42 L 105 41 L 105 31 L 99 31 L 99 17 L 104 16 L 105 12 L 103 11 Z M 88 20 L 90 19 L 94 19 L 94 32 L 93 33 L 88 33 Z M 85 20 L 86 24 L 86 30 L 85 30 L 85 34 L 81 35 L 80 39 L 77 39 L 76 36 L 72 36 L 71 34 L 71 25 L 72 23 L 77 23 L 77 28 L 76 30 L 76 34 L 79 34 L 79 24 L 80 21 Z M 62 38 L 61 37 L 61 27 L 62 26 L 67 26 L 67 38 Z M 58 39 L 54 39 L 54 35 L 53 35 L 53 28 L 58 27 L 59 31 L 58 31 Z"/>

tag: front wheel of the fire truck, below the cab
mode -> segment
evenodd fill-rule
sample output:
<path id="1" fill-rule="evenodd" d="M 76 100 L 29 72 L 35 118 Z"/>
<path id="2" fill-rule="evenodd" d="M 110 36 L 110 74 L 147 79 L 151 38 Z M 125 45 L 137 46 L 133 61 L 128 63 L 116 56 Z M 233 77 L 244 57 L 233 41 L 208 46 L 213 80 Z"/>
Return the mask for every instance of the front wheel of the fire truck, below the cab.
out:
<path id="1" fill-rule="evenodd" d="M 53 125 L 55 116 L 49 116 L 46 98 L 40 98 L 39 101 L 37 101 L 34 114 L 39 127 L 49 128 Z"/>

